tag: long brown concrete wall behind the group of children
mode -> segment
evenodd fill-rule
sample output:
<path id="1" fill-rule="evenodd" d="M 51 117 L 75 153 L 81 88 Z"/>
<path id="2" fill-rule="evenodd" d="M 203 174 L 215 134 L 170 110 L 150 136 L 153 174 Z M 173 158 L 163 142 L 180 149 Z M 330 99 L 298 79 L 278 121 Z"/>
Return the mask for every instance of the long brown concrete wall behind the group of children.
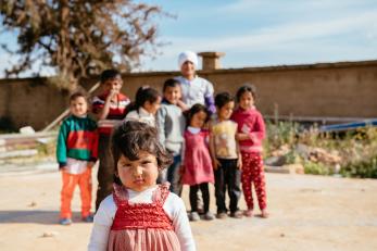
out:
<path id="1" fill-rule="evenodd" d="M 257 108 L 265 115 L 312 117 L 377 117 L 377 61 L 199 71 L 215 91 L 233 93 L 243 84 L 257 88 Z M 161 89 L 178 72 L 126 74 L 123 91 L 134 98 L 141 85 Z M 87 89 L 96 79 L 85 83 Z M 98 92 L 98 91 L 97 91 Z M 17 127 L 41 129 L 66 108 L 67 93 L 46 79 L 1 79 L 0 117 Z"/>

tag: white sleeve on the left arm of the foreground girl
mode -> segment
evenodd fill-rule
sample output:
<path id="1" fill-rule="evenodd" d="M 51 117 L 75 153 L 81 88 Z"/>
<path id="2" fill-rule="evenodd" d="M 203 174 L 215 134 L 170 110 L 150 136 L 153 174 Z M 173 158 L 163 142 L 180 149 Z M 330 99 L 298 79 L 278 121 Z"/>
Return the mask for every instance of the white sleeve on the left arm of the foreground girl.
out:
<path id="1" fill-rule="evenodd" d="M 95 215 L 88 251 L 108 250 L 108 239 L 115 212 L 116 205 L 113 196 L 109 196 L 101 202 L 100 208 Z"/>

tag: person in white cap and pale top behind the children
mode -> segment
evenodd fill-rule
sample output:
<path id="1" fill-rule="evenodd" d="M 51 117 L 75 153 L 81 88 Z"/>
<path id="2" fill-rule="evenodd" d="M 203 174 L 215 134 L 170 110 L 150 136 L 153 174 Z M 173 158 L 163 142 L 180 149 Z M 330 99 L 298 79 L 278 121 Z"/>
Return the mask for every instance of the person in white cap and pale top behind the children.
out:
<path id="1" fill-rule="evenodd" d="M 198 55 L 192 51 L 184 51 L 178 57 L 178 66 L 181 76 L 176 77 L 181 86 L 183 102 L 179 103 L 184 110 L 190 109 L 196 103 L 204 104 L 211 113 L 216 112 L 213 99 L 213 85 L 196 74 L 198 67 Z"/>

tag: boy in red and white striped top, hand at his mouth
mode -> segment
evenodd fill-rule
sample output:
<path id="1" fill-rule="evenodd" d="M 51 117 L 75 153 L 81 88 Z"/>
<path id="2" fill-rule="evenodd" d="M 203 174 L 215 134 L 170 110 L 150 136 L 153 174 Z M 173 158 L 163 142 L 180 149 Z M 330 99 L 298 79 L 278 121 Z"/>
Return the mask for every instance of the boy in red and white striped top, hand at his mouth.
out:
<path id="1" fill-rule="evenodd" d="M 114 125 L 121 123 L 126 115 L 129 99 L 121 93 L 123 80 L 116 70 L 105 70 L 101 74 L 102 95 L 93 98 L 92 112 L 98 117 L 99 127 L 99 160 L 98 189 L 96 210 L 101 201 L 113 190 L 113 160 L 110 156 L 110 135 Z"/>

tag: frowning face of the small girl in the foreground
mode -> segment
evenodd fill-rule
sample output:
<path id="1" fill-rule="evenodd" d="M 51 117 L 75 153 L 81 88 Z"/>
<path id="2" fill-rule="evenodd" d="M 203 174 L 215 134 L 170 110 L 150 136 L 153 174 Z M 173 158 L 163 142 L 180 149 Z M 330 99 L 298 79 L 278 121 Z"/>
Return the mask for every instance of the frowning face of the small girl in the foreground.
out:
<path id="1" fill-rule="evenodd" d="M 139 160 L 130 161 L 121 155 L 117 161 L 117 175 L 128 189 L 143 191 L 156 185 L 158 160 L 147 151 L 140 151 Z"/>

